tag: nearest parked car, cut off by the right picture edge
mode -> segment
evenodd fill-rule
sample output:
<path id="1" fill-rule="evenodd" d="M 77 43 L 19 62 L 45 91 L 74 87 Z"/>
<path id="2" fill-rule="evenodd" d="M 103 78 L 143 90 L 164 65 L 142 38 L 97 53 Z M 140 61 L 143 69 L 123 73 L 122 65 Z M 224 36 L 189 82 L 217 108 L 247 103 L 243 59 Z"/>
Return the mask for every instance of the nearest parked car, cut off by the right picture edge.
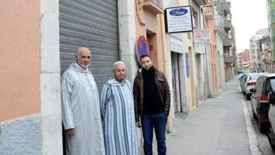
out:
<path id="1" fill-rule="evenodd" d="M 269 75 L 269 81 L 272 87 L 272 91 L 268 93 L 268 101 L 270 103 L 270 108 L 268 111 L 268 119 L 270 122 L 269 130 L 267 133 L 268 141 L 271 148 L 275 151 L 275 74 Z"/>

